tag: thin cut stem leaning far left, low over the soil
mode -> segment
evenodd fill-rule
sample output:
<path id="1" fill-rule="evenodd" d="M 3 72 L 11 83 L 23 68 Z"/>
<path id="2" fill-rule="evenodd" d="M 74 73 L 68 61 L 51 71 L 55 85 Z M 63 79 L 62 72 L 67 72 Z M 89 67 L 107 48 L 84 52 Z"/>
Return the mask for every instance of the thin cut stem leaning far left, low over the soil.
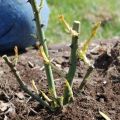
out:
<path id="1" fill-rule="evenodd" d="M 31 97 L 37 100 L 43 107 L 47 107 L 48 109 L 52 110 L 52 108 L 49 106 L 47 102 L 43 101 L 40 96 L 34 94 L 31 90 L 28 89 L 27 85 L 25 85 L 25 83 L 22 81 L 16 67 L 12 64 L 9 58 L 6 55 L 4 55 L 3 59 L 5 60 L 7 65 L 10 67 L 11 71 L 13 72 L 14 76 L 17 79 L 17 82 L 19 83 L 20 87 L 24 90 L 24 92 L 28 93 Z"/>

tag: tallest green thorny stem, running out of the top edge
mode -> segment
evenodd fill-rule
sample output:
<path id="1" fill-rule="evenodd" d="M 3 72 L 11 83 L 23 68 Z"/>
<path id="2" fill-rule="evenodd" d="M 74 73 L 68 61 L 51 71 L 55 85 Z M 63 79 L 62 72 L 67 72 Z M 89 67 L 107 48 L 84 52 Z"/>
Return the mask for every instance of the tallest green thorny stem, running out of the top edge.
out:
<path id="1" fill-rule="evenodd" d="M 41 27 L 41 17 L 39 14 L 39 7 L 41 6 L 39 7 L 37 6 L 36 0 L 28 0 L 28 2 L 31 4 L 31 7 L 33 9 L 39 42 L 43 46 L 46 56 L 49 58 L 46 38 L 45 38 L 43 28 Z M 44 66 L 45 66 L 45 71 L 46 71 L 47 80 L 48 80 L 49 92 L 52 97 L 57 98 L 51 65 L 44 64 Z"/>

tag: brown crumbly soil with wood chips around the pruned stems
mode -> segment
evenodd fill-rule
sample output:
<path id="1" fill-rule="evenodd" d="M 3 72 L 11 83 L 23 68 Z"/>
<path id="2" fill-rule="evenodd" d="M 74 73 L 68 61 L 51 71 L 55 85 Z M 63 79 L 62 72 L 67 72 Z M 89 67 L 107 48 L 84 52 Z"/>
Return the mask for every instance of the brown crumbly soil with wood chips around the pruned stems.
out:
<path id="1" fill-rule="evenodd" d="M 67 71 L 69 46 L 52 46 L 49 52 L 53 62 L 60 69 Z M 9 67 L 0 57 L 0 120 L 104 120 L 99 110 L 108 115 L 111 120 L 120 120 L 119 40 L 93 43 L 88 57 L 91 60 L 95 59 L 96 69 L 91 74 L 85 91 L 80 95 L 77 94 L 78 86 L 88 68 L 82 61 L 78 61 L 73 87 L 74 102 L 56 112 L 45 110 L 24 93 Z M 14 57 L 9 56 L 9 58 L 13 60 Z M 30 66 L 28 61 L 33 66 Z M 36 50 L 28 50 L 20 54 L 17 69 L 24 82 L 31 86 L 31 80 L 34 80 L 38 89 L 48 94 L 42 60 Z M 64 80 L 56 72 L 54 72 L 54 77 L 57 93 L 61 95 Z"/>

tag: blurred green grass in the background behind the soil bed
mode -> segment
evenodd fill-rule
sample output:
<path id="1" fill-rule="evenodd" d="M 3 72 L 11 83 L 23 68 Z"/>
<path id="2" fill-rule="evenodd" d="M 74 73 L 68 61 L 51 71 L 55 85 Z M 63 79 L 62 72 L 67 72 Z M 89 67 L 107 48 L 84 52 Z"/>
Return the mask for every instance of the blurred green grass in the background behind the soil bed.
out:
<path id="1" fill-rule="evenodd" d="M 50 43 L 68 42 L 71 37 L 58 20 L 63 14 L 72 26 L 74 20 L 81 22 L 80 40 L 89 36 L 93 24 L 103 20 L 104 25 L 95 39 L 107 39 L 120 36 L 120 0 L 47 0 L 51 9 L 49 25 L 46 31 Z M 106 20 L 106 19 L 109 20 Z"/>

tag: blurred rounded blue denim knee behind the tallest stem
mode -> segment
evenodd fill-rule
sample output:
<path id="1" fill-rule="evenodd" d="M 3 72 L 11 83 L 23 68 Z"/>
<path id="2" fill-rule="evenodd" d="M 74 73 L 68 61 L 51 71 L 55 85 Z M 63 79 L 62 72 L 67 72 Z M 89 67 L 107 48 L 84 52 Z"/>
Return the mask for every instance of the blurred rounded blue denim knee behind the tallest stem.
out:
<path id="1" fill-rule="evenodd" d="M 38 4 L 40 0 L 37 0 Z M 42 24 L 47 26 L 49 8 L 45 1 L 41 11 Z M 27 0 L 0 0 L 0 52 L 20 49 L 35 44 L 36 33 L 33 11 Z"/>

